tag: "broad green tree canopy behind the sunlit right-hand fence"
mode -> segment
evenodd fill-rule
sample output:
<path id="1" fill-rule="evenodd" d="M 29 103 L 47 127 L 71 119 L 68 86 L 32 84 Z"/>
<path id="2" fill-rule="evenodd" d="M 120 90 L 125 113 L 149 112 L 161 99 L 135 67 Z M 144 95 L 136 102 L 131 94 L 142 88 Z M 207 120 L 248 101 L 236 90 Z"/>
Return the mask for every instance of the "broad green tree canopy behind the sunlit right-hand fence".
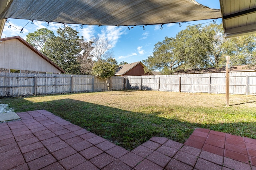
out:
<path id="1" fill-rule="evenodd" d="M 153 55 L 144 60 L 144 72 L 160 70 L 170 74 L 179 69 L 254 65 L 256 34 L 225 39 L 222 24 L 188 26 L 176 37 L 165 37 L 155 44 Z"/>

